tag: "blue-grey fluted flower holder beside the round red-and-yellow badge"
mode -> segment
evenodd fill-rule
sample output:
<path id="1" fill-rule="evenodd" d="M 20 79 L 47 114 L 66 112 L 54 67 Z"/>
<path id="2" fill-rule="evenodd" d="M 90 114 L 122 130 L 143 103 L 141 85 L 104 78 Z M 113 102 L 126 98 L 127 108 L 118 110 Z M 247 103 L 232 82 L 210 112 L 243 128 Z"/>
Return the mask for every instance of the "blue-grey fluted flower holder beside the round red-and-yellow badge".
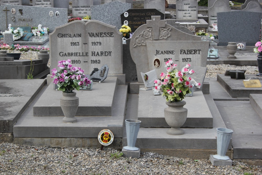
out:
<path id="1" fill-rule="evenodd" d="M 125 120 L 125 128 L 127 131 L 127 146 L 124 146 L 123 149 L 131 151 L 139 150 L 139 148 L 135 147 L 135 142 L 137 141 L 140 124 L 140 120 Z"/>

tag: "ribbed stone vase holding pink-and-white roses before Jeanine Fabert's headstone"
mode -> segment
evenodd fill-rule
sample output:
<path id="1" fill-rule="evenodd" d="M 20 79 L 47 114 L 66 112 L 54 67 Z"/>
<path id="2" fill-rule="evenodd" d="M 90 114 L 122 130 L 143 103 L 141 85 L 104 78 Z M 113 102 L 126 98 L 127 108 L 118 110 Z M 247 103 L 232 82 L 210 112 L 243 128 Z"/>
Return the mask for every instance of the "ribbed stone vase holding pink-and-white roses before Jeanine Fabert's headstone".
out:
<path id="1" fill-rule="evenodd" d="M 184 100 L 180 102 L 166 102 L 168 105 L 167 108 L 164 109 L 164 116 L 166 123 L 171 127 L 167 130 L 167 134 L 170 135 L 182 135 L 185 133 L 183 129 L 180 127 L 187 120 L 187 109 L 184 108 L 186 102 Z"/>

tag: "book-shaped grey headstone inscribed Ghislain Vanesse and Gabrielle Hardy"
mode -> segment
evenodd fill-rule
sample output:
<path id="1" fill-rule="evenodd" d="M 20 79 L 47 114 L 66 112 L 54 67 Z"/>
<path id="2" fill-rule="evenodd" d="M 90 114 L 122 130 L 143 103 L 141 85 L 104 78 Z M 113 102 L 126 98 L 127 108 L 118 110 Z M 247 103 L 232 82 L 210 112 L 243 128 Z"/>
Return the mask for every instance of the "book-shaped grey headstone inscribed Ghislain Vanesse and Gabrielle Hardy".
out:
<path id="1" fill-rule="evenodd" d="M 57 27 L 50 35 L 50 70 L 60 60 L 70 59 L 85 73 L 107 64 L 109 74 L 123 73 L 122 33 L 116 26 L 96 20 L 76 20 Z"/>

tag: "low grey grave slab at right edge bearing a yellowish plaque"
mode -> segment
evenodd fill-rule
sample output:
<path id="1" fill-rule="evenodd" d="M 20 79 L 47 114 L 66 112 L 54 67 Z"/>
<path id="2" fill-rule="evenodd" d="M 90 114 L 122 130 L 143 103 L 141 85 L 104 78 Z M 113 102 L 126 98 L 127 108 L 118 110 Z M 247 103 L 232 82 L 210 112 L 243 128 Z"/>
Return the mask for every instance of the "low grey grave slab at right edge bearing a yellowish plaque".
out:
<path id="1" fill-rule="evenodd" d="M 259 79 L 260 83 L 262 83 L 262 77 L 245 74 L 245 79 L 249 78 Z M 243 79 L 233 79 L 230 75 L 217 74 L 217 81 L 231 97 L 249 97 L 249 94 L 262 94 L 262 87 L 245 88 Z"/>

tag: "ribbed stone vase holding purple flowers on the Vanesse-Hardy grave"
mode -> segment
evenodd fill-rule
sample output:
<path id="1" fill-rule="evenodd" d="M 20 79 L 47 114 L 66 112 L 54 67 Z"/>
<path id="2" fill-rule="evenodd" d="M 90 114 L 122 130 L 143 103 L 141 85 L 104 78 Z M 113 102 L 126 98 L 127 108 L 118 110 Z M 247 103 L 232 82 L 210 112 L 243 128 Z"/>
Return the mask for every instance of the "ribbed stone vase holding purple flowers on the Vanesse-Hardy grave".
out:
<path id="1" fill-rule="evenodd" d="M 60 106 L 64 113 L 63 122 L 64 123 L 74 123 L 77 122 L 75 118 L 75 114 L 77 113 L 77 108 L 79 105 L 79 98 L 75 95 L 76 92 L 73 93 L 62 93 L 63 97 L 60 98 Z"/>

